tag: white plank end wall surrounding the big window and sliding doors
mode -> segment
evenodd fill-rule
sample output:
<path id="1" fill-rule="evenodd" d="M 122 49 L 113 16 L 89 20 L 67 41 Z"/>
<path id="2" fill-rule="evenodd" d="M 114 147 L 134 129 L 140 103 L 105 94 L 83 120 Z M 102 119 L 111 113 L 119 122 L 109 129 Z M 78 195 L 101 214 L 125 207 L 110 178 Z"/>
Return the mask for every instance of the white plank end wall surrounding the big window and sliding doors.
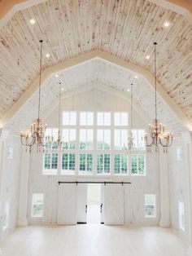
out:
<path id="1" fill-rule="evenodd" d="M 51 109 L 51 107 L 50 107 Z M 52 109 L 51 109 L 52 110 Z M 63 100 L 62 110 L 87 110 L 87 111 L 127 111 L 129 103 L 115 95 L 103 90 L 91 89 L 82 94 L 74 95 Z M 48 111 L 49 112 L 49 111 Z M 142 110 L 139 113 L 134 111 L 134 127 L 146 129 L 148 121 L 143 120 L 145 115 Z M 50 111 L 46 123 L 48 126 L 57 126 L 58 109 Z M 110 180 L 110 181 L 131 181 L 131 185 L 124 185 L 124 223 L 133 224 L 159 224 L 159 157 L 157 154 L 146 156 L 146 176 L 132 177 L 101 177 L 101 176 L 43 176 L 42 154 L 32 152 L 29 192 L 28 192 L 28 222 L 31 224 L 56 223 L 57 222 L 57 182 L 59 180 Z M 43 218 L 31 218 L 32 194 L 43 192 L 45 194 L 45 207 Z M 156 218 L 144 218 L 144 194 L 155 193 L 157 215 Z"/>

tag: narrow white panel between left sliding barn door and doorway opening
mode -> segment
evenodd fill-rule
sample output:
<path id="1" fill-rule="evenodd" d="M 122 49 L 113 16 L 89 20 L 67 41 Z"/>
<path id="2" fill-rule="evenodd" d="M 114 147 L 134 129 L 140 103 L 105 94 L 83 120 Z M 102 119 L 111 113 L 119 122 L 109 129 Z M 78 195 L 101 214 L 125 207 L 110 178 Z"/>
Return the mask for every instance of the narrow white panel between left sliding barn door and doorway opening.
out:
<path id="1" fill-rule="evenodd" d="M 77 223 L 87 222 L 87 184 L 77 185 Z"/>

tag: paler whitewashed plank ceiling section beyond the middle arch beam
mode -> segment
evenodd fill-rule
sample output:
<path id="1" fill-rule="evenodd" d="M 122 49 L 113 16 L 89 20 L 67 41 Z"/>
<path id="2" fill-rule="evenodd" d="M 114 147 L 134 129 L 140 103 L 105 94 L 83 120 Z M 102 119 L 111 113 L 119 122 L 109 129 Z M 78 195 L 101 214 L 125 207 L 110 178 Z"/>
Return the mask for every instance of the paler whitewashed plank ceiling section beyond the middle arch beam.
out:
<path id="1" fill-rule="evenodd" d="M 80 89 L 79 92 L 82 92 L 83 90 L 89 90 L 93 87 L 99 90 L 103 90 L 103 87 L 105 87 L 109 88 L 109 91 L 110 88 L 112 88 L 115 89 L 116 92 L 123 92 L 124 95 L 127 95 L 125 98 L 128 100 L 130 96 L 127 89 L 129 89 L 130 83 L 133 82 L 133 97 L 135 103 L 146 113 L 146 116 L 152 119 L 154 118 L 155 90 L 146 82 L 145 78 L 137 77 L 137 79 L 135 79 L 134 76 L 135 73 L 100 58 L 78 64 L 72 68 L 61 71 L 58 78 L 52 76 L 44 82 L 41 90 L 41 113 L 45 117 L 47 113 L 50 113 L 50 111 L 47 112 L 50 106 L 51 109 L 53 109 L 56 106 L 55 101 L 57 101 L 58 104 L 59 82 L 63 84 L 63 97 L 68 95 L 70 91 L 78 93 L 76 89 Z M 20 130 L 28 129 L 31 122 L 37 118 L 37 100 L 38 91 L 24 104 L 20 112 L 8 122 L 6 128 L 15 134 L 18 134 Z M 158 112 L 160 120 L 166 124 L 168 130 L 174 132 L 175 135 L 185 130 L 185 127 L 181 125 L 176 115 L 172 113 L 172 110 L 164 102 L 164 99 L 160 97 L 158 97 Z"/>

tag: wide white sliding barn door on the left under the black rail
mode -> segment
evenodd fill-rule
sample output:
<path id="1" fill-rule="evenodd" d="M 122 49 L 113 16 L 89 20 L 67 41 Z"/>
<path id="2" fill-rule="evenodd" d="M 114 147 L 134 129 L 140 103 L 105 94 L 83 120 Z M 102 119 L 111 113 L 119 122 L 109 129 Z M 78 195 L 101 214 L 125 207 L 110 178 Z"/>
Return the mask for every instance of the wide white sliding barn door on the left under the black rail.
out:
<path id="1" fill-rule="evenodd" d="M 58 191 L 58 224 L 76 224 L 76 184 L 60 184 Z"/>

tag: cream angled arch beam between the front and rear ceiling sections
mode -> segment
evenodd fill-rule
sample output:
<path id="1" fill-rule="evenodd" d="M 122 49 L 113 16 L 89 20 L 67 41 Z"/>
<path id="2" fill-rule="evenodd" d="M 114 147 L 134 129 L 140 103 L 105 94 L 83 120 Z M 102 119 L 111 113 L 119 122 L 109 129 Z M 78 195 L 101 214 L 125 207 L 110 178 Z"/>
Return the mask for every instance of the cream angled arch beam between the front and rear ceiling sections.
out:
<path id="1" fill-rule="evenodd" d="M 58 73 L 63 69 L 70 68 L 74 65 L 82 64 L 85 61 L 89 61 L 94 58 L 101 58 L 112 64 L 116 64 L 122 68 L 129 69 L 130 71 L 133 71 L 134 73 L 137 73 L 144 77 L 146 81 L 149 82 L 149 84 L 151 84 L 151 86 L 155 88 L 155 79 L 153 75 L 145 68 L 138 67 L 135 64 L 130 64 L 129 62 L 121 60 L 120 58 L 103 51 L 91 51 L 72 60 L 67 60 L 63 64 L 57 64 L 55 66 L 46 68 L 46 70 L 44 70 L 41 74 L 41 82 L 43 84 L 43 82 L 45 82 L 46 79 L 54 73 Z M 18 113 L 20 111 L 20 109 L 24 106 L 28 99 L 30 99 L 33 93 L 38 89 L 38 86 L 39 77 L 37 77 L 37 79 L 32 83 L 32 85 L 29 86 L 28 90 L 26 90 L 24 95 L 22 95 L 20 99 L 7 111 L 4 117 L 2 117 L 2 119 L 0 120 L 0 127 L 5 126 L 7 122 L 11 119 L 11 117 L 13 117 L 15 113 Z M 185 116 L 185 113 L 182 112 L 181 108 L 169 97 L 167 92 L 164 90 L 163 86 L 161 86 L 159 83 L 157 83 L 157 91 L 160 97 L 172 110 L 172 113 L 181 122 L 181 124 L 185 126 L 188 130 L 192 130 L 192 122 L 190 121 L 190 119 Z"/>

